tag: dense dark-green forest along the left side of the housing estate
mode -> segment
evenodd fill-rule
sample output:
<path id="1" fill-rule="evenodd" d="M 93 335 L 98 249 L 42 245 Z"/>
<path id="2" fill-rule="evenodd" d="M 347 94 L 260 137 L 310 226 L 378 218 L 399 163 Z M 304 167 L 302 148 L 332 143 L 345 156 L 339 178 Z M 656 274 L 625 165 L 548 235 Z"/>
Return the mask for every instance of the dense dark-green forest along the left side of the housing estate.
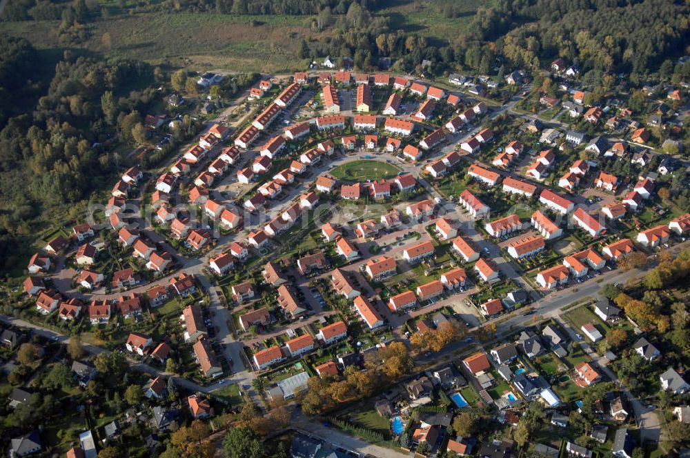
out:
<path id="1" fill-rule="evenodd" d="M 0 37 L 0 268 L 35 238 L 36 217 L 55 218 L 108 186 L 121 159 L 109 147 L 135 141 L 141 114 L 161 97 L 146 86 L 155 78 L 144 63 L 66 51 L 48 81 L 39 65 L 28 41 Z"/>

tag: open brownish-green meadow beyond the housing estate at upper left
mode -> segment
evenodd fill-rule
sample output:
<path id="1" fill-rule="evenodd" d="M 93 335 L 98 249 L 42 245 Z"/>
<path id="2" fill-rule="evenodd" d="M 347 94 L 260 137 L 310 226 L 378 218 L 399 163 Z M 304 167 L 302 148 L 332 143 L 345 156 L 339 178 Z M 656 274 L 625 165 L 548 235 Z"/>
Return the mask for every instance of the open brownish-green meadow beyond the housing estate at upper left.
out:
<path id="1" fill-rule="evenodd" d="M 317 34 L 308 16 L 231 16 L 192 12 L 142 12 L 100 19 L 81 47 L 90 52 L 193 68 L 279 72 L 303 68 L 295 54 L 302 38 Z M 0 23 L 6 32 L 31 41 L 39 49 L 62 48 L 57 22 Z M 109 34 L 104 40 L 104 34 Z M 322 32 L 328 33 L 328 32 Z"/>

